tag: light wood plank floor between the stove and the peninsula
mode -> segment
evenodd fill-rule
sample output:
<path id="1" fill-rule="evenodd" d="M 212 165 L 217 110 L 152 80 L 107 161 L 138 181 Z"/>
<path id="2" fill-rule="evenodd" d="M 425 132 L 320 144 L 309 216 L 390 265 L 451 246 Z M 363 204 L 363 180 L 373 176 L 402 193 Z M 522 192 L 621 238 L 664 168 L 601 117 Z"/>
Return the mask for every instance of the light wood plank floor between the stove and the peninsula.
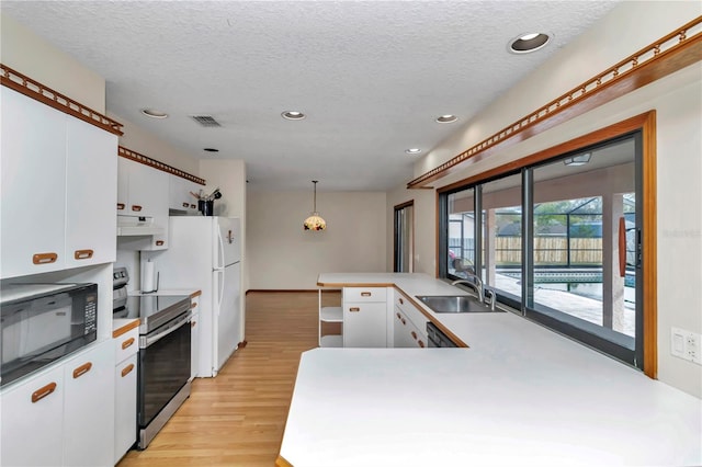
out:
<path id="1" fill-rule="evenodd" d="M 317 346 L 317 293 L 254 292 L 246 307 L 248 345 L 216 378 L 196 378 L 148 448 L 131 451 L 118 467 L 274 465 L 299 355 Z"/>

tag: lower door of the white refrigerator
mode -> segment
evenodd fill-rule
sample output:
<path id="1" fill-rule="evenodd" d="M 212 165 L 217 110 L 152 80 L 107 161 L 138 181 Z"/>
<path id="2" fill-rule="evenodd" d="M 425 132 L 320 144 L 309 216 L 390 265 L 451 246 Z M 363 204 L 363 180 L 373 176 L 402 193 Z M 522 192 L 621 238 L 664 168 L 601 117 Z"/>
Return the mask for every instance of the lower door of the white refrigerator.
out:
<path id="1" fill-rule="evenodd" d="M 215 319 L 216 329 L 216 362 L 217 371 L 231 356 L 240 341 L 240 294 L 239 282 L 241 278 L 241 265 L 235 263 L 224 271 L 215 271 L 215 299 L 219 306 Z"/>

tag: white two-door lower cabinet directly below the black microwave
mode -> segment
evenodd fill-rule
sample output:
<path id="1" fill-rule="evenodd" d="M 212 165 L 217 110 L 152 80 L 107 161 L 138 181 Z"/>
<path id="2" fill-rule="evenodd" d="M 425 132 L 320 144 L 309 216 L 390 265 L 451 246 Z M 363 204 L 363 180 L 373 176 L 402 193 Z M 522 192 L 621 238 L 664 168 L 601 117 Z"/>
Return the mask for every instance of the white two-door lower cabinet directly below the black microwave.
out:
<path id="1" fill-rule="evenodd" d="M 104 341 L 4 388 L 1 464 L 113 465 L 113 368 Z"/>

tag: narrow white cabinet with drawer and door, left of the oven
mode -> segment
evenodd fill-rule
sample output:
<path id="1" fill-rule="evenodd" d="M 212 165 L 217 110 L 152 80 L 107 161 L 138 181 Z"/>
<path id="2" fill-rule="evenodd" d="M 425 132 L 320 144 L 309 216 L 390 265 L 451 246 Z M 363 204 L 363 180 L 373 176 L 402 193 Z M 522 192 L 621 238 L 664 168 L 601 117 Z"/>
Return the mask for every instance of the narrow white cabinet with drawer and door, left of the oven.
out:
<path id="1" fill-rule="evenodd" d="M 139 329 L 113 339 L 114 367 L 114 458 L 117 464 L 136 442 L 137 360 Z"/>

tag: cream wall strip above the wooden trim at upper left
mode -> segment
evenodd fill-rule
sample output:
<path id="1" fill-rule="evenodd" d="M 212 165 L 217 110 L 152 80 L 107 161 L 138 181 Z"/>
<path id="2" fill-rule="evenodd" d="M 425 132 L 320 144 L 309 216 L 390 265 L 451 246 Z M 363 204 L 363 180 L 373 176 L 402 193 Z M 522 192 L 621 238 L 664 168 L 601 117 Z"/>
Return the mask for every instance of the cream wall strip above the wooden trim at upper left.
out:
<path id="1" fill-rule="evenodd" d="M 105 113 L 105 80 L 12 18 L 0 15 L 0 61 L 93 111 Z"/>

